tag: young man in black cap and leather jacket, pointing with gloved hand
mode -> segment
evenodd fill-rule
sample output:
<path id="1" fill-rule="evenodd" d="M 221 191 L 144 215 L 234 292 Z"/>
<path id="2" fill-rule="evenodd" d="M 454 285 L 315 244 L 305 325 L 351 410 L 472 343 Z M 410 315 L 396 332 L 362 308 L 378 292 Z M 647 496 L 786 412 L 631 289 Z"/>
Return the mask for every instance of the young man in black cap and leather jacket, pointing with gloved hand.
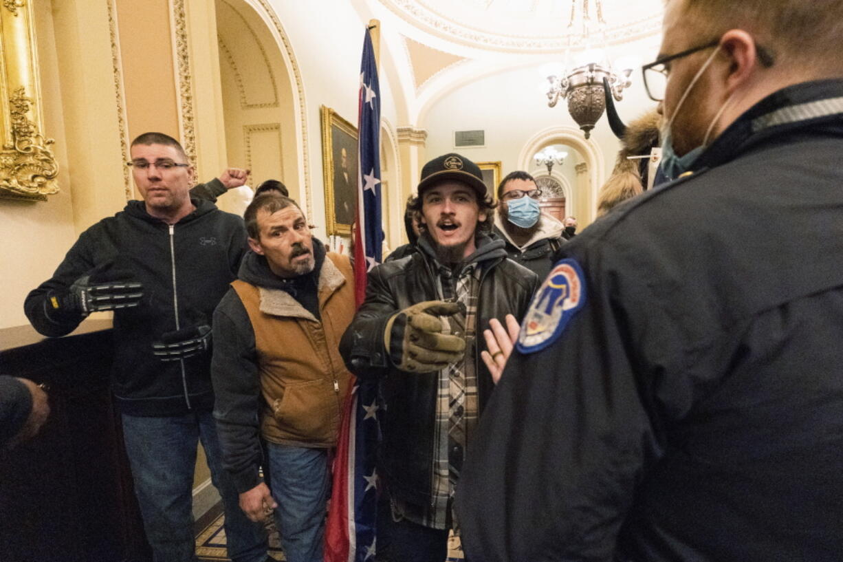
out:
<path id="1" fill-rule="evenodd" d="M 494 387 L 497 358 L 482 352 L 491 372 L 476 332 L 506 317 L 512 337 L 538 284 L 488 235 L 493 208 L 475 163 L 428 162 L 413 208 L 419 249 L 373 268 L 342 338 L 346 365 L 378 378 L 384 400 L 379 560 L 445 559 L 465 447 Z"/>

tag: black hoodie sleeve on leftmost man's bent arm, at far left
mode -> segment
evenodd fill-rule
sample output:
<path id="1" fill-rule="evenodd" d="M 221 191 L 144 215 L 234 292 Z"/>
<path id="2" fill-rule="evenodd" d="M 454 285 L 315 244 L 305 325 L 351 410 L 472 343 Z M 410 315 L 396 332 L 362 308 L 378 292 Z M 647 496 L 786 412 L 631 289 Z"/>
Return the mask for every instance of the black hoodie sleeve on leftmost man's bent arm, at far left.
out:
<path id="1" fill-rule="evenodd" d="M 45 336 L 57 338 L 76 329 L 83 316 L 57 315 L 52 311 L 50 297 L 67 291 L 74 281 L 96 265 L 90 230 L 86 230 L 67 251 L 64 260 L 56 268 L 56 273 L 26 296 L 24 312 L 35 330 Z"/>

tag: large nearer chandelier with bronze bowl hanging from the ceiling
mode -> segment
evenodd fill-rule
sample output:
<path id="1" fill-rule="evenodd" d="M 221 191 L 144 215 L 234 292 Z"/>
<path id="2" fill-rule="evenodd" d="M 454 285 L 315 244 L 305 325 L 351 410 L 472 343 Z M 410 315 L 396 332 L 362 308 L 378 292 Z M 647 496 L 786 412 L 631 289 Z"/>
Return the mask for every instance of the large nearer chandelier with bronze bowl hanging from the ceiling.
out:
<path id="1" fill-rule="evenodd" d="M 592 19 L 590 8 L 591 0 L 582 0 L 582 8 L 577 18 L 577 0 L 571 0 L 571 19 L 567 27 L 568 43 L 565 51 L 565 69 L 562 76 L 551 75 L 547 77 L 550 82 L 550 89 L 547 91 L 547 99 L 550 107 L 555 107 L 559 98 L 568 100 L 568 112 L 577 122 L 577 125 L 585 133 L 585 138 L 591 136 L 594 128 L 603 111 L 606 108 L 607 91 L 615 97 L 615 100 L 623 99 L 623 90 L 631 84 L 631 68 L 626 68 L 620 73 L 615 73 L 609 62 L 609 49 L 606 46 L 606 22 L 603 19 L 603 5 L 601 0 L 594 0 L 596 19 Z M 581 24 L 582 29 L 575 31 Z M 593 49 L 593 41 L 599 38 L 600 48 Z M 575 45 L 576 43 L 576 45 Z M 571 48 L 577 46 L 583 48 L 588 60 L 572 68 Z M 570 69 L 570 70 L 569 70 Z"/>

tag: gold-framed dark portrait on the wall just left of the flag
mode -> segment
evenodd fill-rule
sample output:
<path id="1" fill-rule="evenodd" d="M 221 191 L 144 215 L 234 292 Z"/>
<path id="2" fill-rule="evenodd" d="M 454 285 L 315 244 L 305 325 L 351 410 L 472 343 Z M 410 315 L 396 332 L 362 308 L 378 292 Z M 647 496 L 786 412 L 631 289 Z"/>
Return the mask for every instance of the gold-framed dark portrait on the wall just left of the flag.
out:
<path id="1" fill-rule="evenodd" d="M 319 107 L 328 235 L 350 236 L 357 205 L 357 127 L 336 111 Z"/>

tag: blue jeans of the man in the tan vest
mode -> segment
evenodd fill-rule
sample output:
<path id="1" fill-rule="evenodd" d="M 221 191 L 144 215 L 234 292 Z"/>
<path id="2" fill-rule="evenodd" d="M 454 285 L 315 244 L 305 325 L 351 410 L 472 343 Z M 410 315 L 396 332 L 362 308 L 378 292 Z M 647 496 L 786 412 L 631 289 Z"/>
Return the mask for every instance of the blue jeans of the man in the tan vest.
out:
<path id="1" fill-rule="evenodd" d="M 267 443 L 271 492 L 287 562 L 322 562 L 328 450 Z"/>

